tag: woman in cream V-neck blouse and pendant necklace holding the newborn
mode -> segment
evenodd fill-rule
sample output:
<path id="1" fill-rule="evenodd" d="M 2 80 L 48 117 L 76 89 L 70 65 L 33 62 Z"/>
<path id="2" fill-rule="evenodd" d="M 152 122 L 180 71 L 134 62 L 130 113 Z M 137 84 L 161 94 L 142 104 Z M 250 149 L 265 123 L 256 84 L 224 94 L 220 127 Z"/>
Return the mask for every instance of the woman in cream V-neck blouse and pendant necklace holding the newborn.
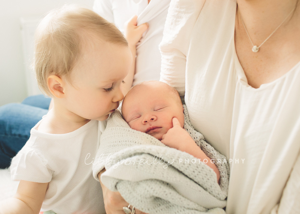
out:
<path id="1" fill-rule="evenodd" d="M 299 213 L 299 23 L 298 0 L 170 3 L 161 81 L 232 160 L 226 213 Z M 114 195 L 107 213 L 122 210 Z"/>

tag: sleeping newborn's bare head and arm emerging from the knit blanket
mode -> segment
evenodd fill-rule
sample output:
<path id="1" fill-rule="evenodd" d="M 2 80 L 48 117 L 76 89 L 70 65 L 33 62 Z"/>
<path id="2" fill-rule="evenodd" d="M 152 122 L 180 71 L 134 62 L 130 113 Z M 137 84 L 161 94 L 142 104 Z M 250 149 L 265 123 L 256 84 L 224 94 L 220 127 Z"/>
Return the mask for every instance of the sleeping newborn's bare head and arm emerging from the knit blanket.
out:
<path id="1" fill-rule="evenodd" d="M 159 81 L 135 85 L 123 100 L 122 116 L 132 129 L 145 132 L 202 161 L 207 159 L 206 165 L 215 171 L 219 181 L 217 167 L 183 128 L 183 106 L 175 88 Z"/>

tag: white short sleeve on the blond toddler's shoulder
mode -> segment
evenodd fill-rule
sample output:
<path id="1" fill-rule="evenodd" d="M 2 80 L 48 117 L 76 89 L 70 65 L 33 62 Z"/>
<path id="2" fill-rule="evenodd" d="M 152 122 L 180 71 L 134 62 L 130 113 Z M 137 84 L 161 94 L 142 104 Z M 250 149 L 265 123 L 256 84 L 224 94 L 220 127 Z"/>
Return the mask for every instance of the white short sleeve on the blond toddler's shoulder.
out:
<path id="1" fill-rule="evenodd" d="M 26 145 L 13 157 L 10 165 L 12 180 L 26 180 L 38 183 L 48 183 L 53 171 L 47 160 Z"/>

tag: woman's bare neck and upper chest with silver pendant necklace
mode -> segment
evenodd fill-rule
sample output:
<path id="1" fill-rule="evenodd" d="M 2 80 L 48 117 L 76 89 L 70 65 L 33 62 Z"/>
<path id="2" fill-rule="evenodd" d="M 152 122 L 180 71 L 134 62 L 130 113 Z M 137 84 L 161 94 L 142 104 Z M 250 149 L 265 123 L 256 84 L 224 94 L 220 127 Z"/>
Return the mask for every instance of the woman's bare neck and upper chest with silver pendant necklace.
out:
<path id="1" fill-rule="evenodd" d="M 237 0 L 235 50 L 253 88 L 278 79 L 300 60 L 300 3 L 287 1 Z"/>

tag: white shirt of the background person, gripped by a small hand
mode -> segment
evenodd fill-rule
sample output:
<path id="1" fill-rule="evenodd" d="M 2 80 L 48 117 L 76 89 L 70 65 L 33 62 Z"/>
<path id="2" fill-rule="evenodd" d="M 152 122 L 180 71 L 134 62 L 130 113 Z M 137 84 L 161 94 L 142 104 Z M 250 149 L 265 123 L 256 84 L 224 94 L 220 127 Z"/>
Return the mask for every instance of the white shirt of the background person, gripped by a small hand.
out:
<path id="1" fill-rule="evenodd" d="M 125 22 L 137 15 L 137 25 L 149 23 L 149 28 L 137 44 L 136 69 L 133 85 L 159 80 L 161 53 L 158 45 L 163 37 L 170 0 L 95 0 L 93 10 L 114 22 L 124 34 Z"/>

